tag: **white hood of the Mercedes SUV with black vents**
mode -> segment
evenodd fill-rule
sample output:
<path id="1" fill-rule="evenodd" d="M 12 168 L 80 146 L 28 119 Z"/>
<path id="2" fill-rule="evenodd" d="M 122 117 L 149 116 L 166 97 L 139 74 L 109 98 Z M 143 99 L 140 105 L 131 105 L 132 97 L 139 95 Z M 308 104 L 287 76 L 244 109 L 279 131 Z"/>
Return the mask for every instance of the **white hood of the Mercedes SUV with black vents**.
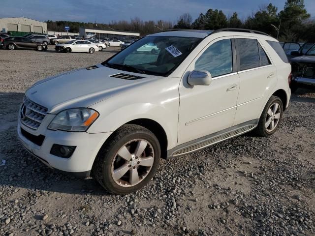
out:
<path id="1" fill-rule="evenodd" d="M 54 114 L 68 108 L 89 107 L 135 85 L 158 78 L 158 76 L 112 69 L 101 64 L 87 68 L 38 81 L 26 91 L 26 96 L 46 107 L 48 113 Z M 126 80 L 111 77 L 119 73 L 142 78 Z"/>

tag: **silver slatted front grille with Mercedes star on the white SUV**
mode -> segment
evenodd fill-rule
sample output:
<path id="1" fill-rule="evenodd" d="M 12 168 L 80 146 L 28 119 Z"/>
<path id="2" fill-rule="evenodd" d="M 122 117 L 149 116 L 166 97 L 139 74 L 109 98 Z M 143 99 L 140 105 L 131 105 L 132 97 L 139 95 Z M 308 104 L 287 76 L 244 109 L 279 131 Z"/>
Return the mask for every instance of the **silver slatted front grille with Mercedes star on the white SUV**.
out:
<path id="1" fill-rule="evenodd" d="M 20 120 L 25 126 L 36 130 L 45 118 L 47 111 L 47 108 L 24 97 L 20 110 Z"/>

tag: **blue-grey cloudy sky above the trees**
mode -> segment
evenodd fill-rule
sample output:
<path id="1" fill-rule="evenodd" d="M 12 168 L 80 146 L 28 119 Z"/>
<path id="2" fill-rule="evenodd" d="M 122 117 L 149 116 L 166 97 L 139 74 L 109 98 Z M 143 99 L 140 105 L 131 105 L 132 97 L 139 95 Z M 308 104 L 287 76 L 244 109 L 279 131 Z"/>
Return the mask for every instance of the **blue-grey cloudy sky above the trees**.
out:
<path id="1" fill-rule="evenodd" d="M 134 16 L 142 20 L 175 22 L 189 12 L 196 19 L 208 9 L 221 9 L 227 16 L 237 12 L 241 19 L 252 15 L 260 5 L 272 3 L 278 11 L 285 0 L 0 0 L 0 18 L 28 17 L 34 20 L 68 20 L 109 23 Z M 304 0 L 306 9 L 315 17 L 315 0 Z"/>

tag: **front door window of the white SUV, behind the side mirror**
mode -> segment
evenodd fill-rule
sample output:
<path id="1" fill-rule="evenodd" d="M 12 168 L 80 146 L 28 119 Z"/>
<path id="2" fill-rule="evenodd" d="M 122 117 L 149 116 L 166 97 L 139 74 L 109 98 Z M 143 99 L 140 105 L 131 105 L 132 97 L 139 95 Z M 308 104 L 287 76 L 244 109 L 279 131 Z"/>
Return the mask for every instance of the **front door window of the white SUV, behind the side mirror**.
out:
<path id="1" fill-rule="evenodd" d="M 210 45 L 196 60 L 196 70 L 207 70 L 212 77 L 232 72 L 232 44 L 230 39 L 224 39 Z"/>

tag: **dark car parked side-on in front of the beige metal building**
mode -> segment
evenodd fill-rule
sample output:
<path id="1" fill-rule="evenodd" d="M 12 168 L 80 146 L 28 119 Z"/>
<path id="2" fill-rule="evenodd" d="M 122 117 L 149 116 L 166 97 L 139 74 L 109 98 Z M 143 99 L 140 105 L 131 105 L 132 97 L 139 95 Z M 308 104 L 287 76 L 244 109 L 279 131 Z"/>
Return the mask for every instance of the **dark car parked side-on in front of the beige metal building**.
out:
<path id="1" fill-rule="evenodd" d="M 36 49 L 38 51 L 47 50 L 46 44 L 34 42 L 32 39 L 26 37 L 9 37 L 4 39 L 3 44 L 9 50 L 17 48 Z"/>

